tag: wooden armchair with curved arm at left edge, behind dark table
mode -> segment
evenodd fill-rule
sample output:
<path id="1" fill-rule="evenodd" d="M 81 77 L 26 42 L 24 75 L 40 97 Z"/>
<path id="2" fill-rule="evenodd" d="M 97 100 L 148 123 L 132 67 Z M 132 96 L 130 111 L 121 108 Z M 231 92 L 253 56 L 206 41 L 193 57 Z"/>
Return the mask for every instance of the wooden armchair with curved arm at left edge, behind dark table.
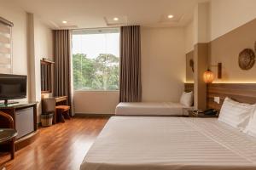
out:
<path id="1" fill-rule="evenodd" d="M 9 116 L 3 111 L 0 111 L 0 118 L 3 118 L 5 121 L 8 122 L 7 128 L 15 128 L 15 123 L 12 116 Z M 9 146 L 10 146 L 11 159 L 15 159 L 15 138 L 11 139 L 9 143 L 10 143 Z"/>

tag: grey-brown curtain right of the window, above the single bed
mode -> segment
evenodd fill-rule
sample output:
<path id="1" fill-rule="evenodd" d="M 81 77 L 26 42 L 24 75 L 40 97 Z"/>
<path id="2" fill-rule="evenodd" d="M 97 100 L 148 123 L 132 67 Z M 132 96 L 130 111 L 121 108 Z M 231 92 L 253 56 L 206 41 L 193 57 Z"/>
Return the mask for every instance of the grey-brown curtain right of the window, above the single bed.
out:
<path id="1" fill-rule="evenodd" d="M 119 102 L 142 100 L 140 37 L 140 26 L 121 27 Z"/>

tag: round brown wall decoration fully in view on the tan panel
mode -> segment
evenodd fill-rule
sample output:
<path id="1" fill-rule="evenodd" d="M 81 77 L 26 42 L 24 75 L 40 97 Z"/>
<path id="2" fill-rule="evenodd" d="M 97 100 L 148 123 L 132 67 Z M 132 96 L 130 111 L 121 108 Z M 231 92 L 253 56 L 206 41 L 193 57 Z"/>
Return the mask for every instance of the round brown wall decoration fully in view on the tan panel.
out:
<path id="1" fill-rule="evenodd" d="M 255 54 L 253 49 L 246 48 L 241 51 L 238 58 L 241 70 L 250 70 L 255 63 Z"/>

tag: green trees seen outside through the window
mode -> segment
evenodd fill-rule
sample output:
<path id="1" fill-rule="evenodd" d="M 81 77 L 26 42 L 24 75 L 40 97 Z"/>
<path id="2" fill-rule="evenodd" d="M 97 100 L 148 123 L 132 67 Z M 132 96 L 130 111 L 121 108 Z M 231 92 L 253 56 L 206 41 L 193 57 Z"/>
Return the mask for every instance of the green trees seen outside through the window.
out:
<path id="1" fill-rule="evenodd" d="M 99 54 L 96 59 L 86 54 L 73 54 L 74 90 L 118 90 L 119 58 Z"/>

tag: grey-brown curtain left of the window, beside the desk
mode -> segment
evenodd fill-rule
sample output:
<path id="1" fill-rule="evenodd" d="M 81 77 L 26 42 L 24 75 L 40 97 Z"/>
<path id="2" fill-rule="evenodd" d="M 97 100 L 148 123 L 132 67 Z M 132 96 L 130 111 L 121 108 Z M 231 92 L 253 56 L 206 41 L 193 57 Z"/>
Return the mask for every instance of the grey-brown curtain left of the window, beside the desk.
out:
<path id="1" fill-rule="evenodd" d="M 55 30 L 55 96 L 67 96 L 71 105 L 71 35 L 68 30 Z"/>

